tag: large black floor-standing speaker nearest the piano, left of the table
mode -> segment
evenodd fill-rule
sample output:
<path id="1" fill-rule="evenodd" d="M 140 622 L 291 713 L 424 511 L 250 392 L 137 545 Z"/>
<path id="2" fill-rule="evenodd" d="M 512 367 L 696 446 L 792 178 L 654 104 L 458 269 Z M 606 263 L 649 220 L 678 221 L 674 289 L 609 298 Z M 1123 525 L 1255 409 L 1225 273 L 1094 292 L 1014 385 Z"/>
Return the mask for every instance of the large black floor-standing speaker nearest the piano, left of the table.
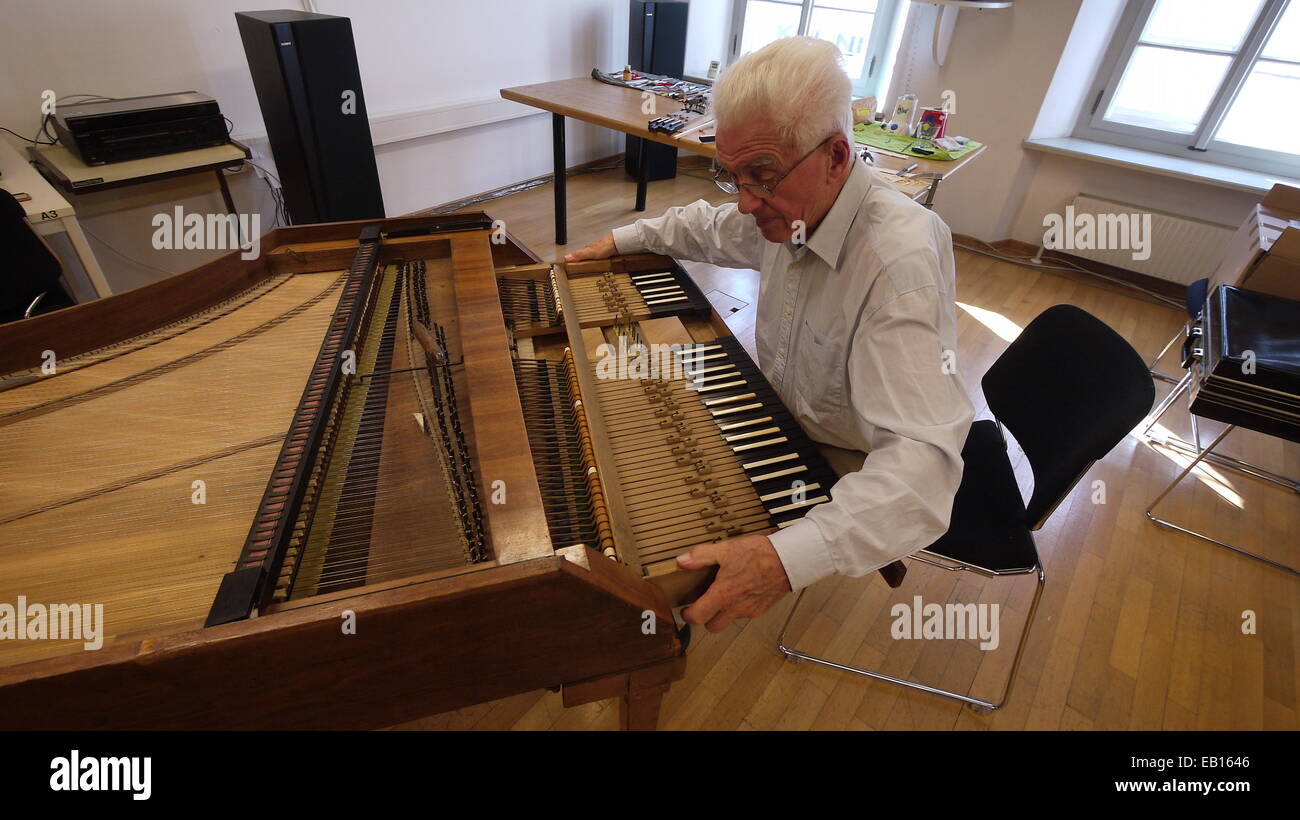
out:
<path id="1" fill-rule="evenodd" d="M 352 22 L 308 12 L 237 12 L 290 221 L 385 216 Z"/>

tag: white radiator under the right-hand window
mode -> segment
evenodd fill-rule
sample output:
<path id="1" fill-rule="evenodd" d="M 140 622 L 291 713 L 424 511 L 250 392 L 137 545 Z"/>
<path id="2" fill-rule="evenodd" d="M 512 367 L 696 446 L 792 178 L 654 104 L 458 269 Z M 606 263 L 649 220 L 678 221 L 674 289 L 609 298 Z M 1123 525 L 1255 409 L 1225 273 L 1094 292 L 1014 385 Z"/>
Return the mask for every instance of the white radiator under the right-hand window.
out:
<path id="1" fill-rule="evenodd" d="M 1213 273 L 1236 230 L 1087 194 L 1043 225 L 1049 250 L 1182 285 Z"/>

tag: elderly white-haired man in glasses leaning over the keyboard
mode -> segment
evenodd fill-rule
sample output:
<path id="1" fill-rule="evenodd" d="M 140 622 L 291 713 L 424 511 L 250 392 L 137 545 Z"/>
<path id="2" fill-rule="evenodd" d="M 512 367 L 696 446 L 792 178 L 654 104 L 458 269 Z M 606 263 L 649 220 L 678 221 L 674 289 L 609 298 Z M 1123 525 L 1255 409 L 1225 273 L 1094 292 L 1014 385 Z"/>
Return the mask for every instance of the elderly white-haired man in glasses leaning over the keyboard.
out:
<path id="1" fill-rule="evenodd" d="M 849 97 L 831 43 L 786 38 L 745 56 L 714 88 L 716 181 L 738 201 L 672 208 L 567 256 L 653 251 L 757 268 L 763 374 L 811 438 L 871 454 L 797 524 L 677 559 L 718 565 L 682 612 L 710 632 L 792 589 L 930 546 L 961 482 L 972 408 L 954 366 L 952 235 L 857 160 Z"/>

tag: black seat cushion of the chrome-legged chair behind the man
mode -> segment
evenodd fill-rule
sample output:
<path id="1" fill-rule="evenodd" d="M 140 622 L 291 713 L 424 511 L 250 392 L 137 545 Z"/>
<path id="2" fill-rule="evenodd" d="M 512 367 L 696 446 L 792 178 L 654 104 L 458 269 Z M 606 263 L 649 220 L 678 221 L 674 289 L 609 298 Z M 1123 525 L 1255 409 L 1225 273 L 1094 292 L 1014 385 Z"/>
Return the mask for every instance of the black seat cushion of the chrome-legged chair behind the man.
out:
<path id="1" fill-rule="evenodd" d="M 996 422 L 971 425 L 962 460 L 966 464 L 948 533 L 927 551 L 992 572 L 1036 567 L 1037 551 L 1024 522 L 1024 500 Z"/>

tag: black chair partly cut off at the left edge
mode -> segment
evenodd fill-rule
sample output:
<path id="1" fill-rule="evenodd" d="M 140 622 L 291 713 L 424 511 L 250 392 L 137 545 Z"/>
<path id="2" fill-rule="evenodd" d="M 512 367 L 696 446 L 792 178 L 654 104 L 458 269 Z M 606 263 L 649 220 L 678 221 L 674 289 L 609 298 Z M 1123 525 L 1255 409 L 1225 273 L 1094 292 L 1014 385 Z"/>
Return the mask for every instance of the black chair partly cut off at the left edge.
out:
<path id="1" fill-rule="evenodd" d="M 38 305 L 72 304 L 58 277 L 62 265 L 44 240 L 31 230 L 27 214 L 9 191 L 0 188 L 0 324 L 26 318 Z"/>

